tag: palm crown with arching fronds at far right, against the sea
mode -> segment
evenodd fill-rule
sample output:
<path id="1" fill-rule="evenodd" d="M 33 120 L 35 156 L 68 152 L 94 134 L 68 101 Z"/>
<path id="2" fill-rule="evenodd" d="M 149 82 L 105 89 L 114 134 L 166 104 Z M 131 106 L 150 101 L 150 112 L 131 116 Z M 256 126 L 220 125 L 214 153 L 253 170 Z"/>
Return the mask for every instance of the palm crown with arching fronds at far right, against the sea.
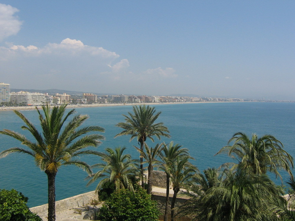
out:
<path id="1" fill-rule="evenodd" d="M 228 141 L 232 146 L 224 146 L 217 154 L 227 152 L 229 156 L 238 160 L 233 169 L 240 167 L 250 169 L 254 174 L 266 174 L 271 172 L 280 177 L 278 170 L 286 170 L 293 177 L 291 168 L 293 157 L 283 150 L 283 144 L 272 135 L 264 135 L 260 138 L 252 134 L 250 139 L 245 133 L 235 133 Z M 217 155 L 215 154 L 215 155 Z M 283 181 L 282 181 L 283 182 Z"/>

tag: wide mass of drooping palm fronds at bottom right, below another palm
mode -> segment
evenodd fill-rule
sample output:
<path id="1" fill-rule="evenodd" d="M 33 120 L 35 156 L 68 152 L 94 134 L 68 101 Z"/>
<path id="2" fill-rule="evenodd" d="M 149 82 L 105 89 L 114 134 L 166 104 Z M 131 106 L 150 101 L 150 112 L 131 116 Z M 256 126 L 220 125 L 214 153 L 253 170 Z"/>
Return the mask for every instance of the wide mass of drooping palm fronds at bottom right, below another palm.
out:
<path id="1" fill-rule="evenodd" d="M 249 173 L 247 170 L 224 169 L 219 174 L 216 169 L 198 175 L 186 195 L 191 197 L 180 208 L 185 215 L 193 215 L 194 220 L 279 220 L 277 211 L 267 210 L 275 202 L 286 203 L 278 188 L 267 175 Z M 200 186 L 199 186 L 200 185 Z"/>

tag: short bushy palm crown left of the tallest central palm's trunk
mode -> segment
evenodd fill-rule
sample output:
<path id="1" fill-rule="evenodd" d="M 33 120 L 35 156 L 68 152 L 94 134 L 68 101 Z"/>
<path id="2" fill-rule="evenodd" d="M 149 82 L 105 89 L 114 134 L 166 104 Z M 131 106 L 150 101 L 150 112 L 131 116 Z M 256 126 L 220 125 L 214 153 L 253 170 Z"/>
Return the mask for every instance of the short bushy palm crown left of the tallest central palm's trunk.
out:
<path id="1" fill-rule="evenodd" d="M 114 183 L 116 189 L 125 188 L 133 191 L 130 178 L 138 174 L 138 160 L 131 159 L 130 154 L 123 154 L 125 149 L 125 147 L 117 147 L 115 150 L 106 148 L 106 153 L 100 154 L 101 159 L 105 163 L 91 166 L 92 168 L 101 168 L 101 170 L 89 176 L 91 180 L 87 186 L 96 181 L 96 179 L 105 177 L 98 183 L 96 191 L 99 191 L 101 186 L 108 182 Z"/>

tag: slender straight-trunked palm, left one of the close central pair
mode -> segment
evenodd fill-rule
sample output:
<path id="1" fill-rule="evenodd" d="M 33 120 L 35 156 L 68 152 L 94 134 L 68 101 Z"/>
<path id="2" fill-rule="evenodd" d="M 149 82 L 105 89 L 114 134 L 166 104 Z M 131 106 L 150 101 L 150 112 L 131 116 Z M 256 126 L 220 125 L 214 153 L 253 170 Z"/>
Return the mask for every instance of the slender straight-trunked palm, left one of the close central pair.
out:
<path id="1" fill-rule="evenodd" d="M 188 149 L 181 148 L 179 144 L 173 145 L 173 141 L 169 145 L 164 144 L 162 151 L 160 152 L 161 162 L 158 168 L 165 171 L 166 173 L 166 203 L 165 203 L 165 214 L 164 221 L 168 220 L 168 210 L 169 210 L 169 187 L 170 187 L 170 176 L 171 167 L 175 163 L 177 156 L 189 156 Z"/>

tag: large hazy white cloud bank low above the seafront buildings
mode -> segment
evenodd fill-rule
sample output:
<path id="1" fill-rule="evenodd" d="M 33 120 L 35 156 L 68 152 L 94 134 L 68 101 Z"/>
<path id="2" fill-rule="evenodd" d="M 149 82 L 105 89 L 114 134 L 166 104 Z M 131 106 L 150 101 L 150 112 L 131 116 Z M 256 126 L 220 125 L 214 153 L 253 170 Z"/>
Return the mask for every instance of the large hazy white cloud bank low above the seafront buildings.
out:
<path id="1" fill-rule="evenodd" d="M 137 90 L 148 90 L 177 77 L 171 67 L 129 70 L 129 61 L 119 57 L 116 52 L 77 39 L 39 47 L 7 43 L 0 47 L 0 76 L 12 88 L 75 88 L 104 93 L 123 93 L 136 85 L 141 85 Z"/>

